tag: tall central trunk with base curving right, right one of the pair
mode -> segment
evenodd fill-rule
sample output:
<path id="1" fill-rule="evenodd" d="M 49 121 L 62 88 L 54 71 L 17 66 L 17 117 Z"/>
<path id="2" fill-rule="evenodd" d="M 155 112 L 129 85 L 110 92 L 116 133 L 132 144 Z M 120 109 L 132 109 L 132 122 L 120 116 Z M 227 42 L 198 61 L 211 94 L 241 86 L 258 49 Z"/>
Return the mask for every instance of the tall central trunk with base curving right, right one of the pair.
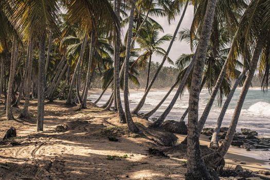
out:
<path id="1" fill-rule="evenodd" d="M 133 0 L 135 5 L 136 0 Z M 129 105 L 129 60 L 130 60 L 130 48 L 131 48 L 131 40 L 132 40 L 132 25 L 134 19 L 134 5 L 132 5 L 130 10 L 130 22 L 128 29 L 128 39 L 127 39 L 127 50 L 125 54 L 125 65 L 124 65 L 124 111 L 125 111 L 125 119 L 127 120 L 127 124 L 129 130 L 133 133 L 138 133 L 139 129 L 134 124 L 131 113 L 130 113 L 130 105 Z"/>

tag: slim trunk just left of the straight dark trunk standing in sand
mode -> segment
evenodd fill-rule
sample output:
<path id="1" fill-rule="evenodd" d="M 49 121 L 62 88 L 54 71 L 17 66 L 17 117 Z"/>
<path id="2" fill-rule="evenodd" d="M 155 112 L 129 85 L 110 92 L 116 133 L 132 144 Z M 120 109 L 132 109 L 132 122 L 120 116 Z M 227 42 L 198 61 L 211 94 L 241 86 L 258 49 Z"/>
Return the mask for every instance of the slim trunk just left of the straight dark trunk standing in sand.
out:
<path id="1" fill-rule="evenodd" d="M 29 107 L 29 101 L 30 101 L 30 91 L 31 91 L 31 77 L 32 77 L 32 62 L 33 62 L 33 42 L 30 38 L 30 41 L 28 42 L 28 51 L 29 51 L 29 66 L 27 71 L 27 80 L 26 80 L 26 86 L 25 86 L 25 101 L 24 101 L 24 109 L 19 115 L 19 118 L 28 118 L 28 107 Z"/>

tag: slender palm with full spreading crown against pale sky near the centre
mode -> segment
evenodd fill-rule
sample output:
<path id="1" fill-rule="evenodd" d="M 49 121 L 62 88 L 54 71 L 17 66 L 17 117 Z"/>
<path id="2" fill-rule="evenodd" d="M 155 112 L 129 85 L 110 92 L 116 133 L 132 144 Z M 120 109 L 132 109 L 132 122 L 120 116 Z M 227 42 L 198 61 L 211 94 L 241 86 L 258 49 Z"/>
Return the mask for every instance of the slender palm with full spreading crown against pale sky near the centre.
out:
<path id="1" fill-rule="evenodd" d="M 141 64 L 146 64 L 147 59 L 149 59 L 146 90 L 149 84 L 151 60 L 153 54 L 156 54 L 164 58 L 166 57 L 167 61 L 173 64 L 172 60 L 166 55 L 166 51 L 163 48 L 159 47 L 166 41 L 170 41 L 172 39 L 172 36 L 169 34 L 165 34 L 163 35 L 163 37 L 158 38 L 159 30 L 163 31 L 163 29 L 160 29 L 160 27 L 157 26 L 157 24 L 152 24 L 145 26 L 139 32 L 135 31 L 135 33 L 138 34 L 135 40 L 139 44 L 140 50 L 143 51 L 142 55 L 139 56 L 139 58 L 136 60 L 135 63 L 136 65 L 141 66 Z"/>

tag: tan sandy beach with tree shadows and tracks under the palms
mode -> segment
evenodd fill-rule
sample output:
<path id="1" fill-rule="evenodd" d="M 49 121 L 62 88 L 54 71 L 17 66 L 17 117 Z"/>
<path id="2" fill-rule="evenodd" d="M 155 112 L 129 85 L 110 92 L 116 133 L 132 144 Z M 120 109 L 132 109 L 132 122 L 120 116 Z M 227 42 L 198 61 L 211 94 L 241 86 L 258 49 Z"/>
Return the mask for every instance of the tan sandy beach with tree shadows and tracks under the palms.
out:
<path id="1" fill-rule="evenodd" d="M 64 101 L 46 103 L 44 132 L 40 133 L 35 132 L 37 101 L 31 101 L 30 120 L 6 121 L 1 104 L 0 138 L 12 126 L 18 137 L 14 140 L 21 145 L 0 145 L 0 179 L 184 179 L 185 158 L 150 155 L 149 148 L 164 148 L 151 138 L 124 134 L 118 137 L 118 142 L 109 141 L 104 128 L 126 125 L 118 122 L 114 112 L 102 111 L 88 103 L 89 108 L 82 111 L 66 107 Z M 21 108 L 13 109 L 15 117 Z M 75 124 L 64 132 L 56 130 L 57 125 L 77 120 L 86 123 Z M 136 117 L 134 121 L 143 127 L 149 124 Z M 178 143 L 185 138 L 176 136 Z M 208 146 L 208 137 L 201 137 L 201 145 Z M 263 160 L 253 152 L 231 147 L 225 156 L 225 167 L 241 165 L 252 171 L 269 170 L 267 158 Z"/>

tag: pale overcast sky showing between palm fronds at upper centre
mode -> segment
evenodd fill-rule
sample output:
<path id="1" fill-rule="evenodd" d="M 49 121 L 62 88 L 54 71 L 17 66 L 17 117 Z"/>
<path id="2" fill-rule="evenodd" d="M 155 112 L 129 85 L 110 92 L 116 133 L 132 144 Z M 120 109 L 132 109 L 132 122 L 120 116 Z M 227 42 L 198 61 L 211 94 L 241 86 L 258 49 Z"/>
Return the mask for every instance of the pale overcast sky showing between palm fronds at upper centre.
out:
<path id="1" fill-rule="evenodd" d="M 157 21 L 164 29 L 164 33 L 160 32 L 160 37 L 164 34 L 171 34 L 173 35 L 175 28 L 178 24 L 178 21 L 180 19 L 181 15 L 178 15 L 175 19 L 175 21 L 172 21 L 171 24 L 169 25 L 167 17 L 153 17 L 155 21 Z M 179 28 L 179 30 L 182 30 L 184 28 L 190 28 L 191 23 L 193 19 L 193 6 L 188 6 L 188 9 L 186 11 L 185 17 L 183 19 L 183 22 Z M 123 32 L 127 32 L 127 27 L 123 29 Z M 167 50 L 170 42 L 165 43 L 162 48 Z M 175 62 L 175 60 L 181 56 L 183 53 L 190 53 L 190 46 L 187 44 L 185 41 L 180 42 L 178 38 L 173 43 L 173 46 L 171 48 L 171 51 L 169 53 L 169 57 Z M 161 62 L 160 57 L 153 56 L 152 61 L 154 62 Z M 165 66 L 171 66 L 169 63 L 165 62 Z"/>

